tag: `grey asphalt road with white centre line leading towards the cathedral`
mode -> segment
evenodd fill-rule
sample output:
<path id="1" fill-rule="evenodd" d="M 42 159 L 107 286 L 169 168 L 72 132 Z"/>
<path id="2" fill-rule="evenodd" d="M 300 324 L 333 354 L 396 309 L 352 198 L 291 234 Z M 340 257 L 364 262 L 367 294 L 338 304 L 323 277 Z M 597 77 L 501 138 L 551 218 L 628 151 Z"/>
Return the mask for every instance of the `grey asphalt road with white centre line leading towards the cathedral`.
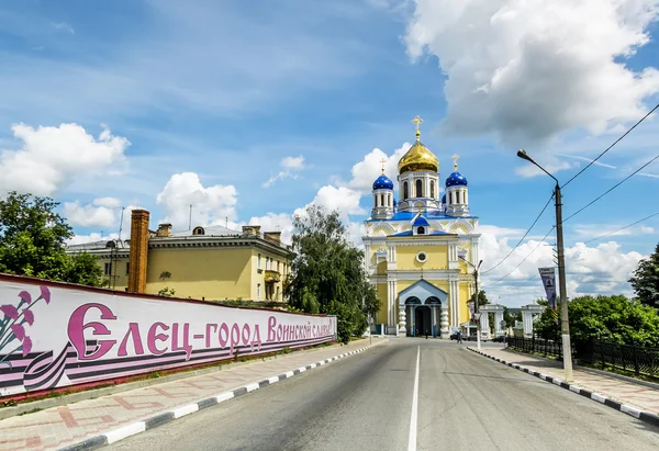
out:
<path id="1" fill-rule="evenodd" d="M 659 450 L 659 429 L 465 347 L 393 339 L 110 449 Z"/>

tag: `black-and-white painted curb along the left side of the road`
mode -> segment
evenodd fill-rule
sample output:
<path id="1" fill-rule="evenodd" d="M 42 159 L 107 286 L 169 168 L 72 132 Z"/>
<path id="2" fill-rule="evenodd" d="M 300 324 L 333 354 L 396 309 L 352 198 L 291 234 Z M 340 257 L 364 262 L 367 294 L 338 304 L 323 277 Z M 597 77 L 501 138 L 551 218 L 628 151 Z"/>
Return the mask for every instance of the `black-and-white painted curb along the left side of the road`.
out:
<path id="1" fill-rule="evenodd" d="M 271 376 L 268 379 L 264 379 L 263 381 L 259 381 L 259 382 L 253 382 L 253 383 L 249 383 L 242 387 L 238 387 L 238 388 L 235 388 L 235 390 L 232 390 L 228 392 L 220 393 L 219 395 L 211 396 L 209 398 L 199 401 L 197 403 L 179 406 L 172 410 L 160 413 L 158 415 L 155 415 L 150 418 L 146 418 L 141 421 L 135 421 L 135 422 L 131 422 L 129 425 L 124 425 L 120 428 L 101 433 L 100 436 L 88 437 L 87 439 L 79 441 L 77 443 L 69 444 L 68 447 L 59 448 L 59 451 L 96 450 L 96 449 L 107 447 L 112 443 L 116 443 L 120 440 L 123 440 L 125 438 L 135 436 L 137 433 L 145 432 L 147 430 L 157 428 L 158 426 L 166 425 L 170 421 L 177 420 L 179 418 L 182 418 L 187 415 L 193 414 L 193 413 L 204 409 L 206 407 L 212 407 L 212 406 L 223 403 L 225 401 L 233 399 L 235 397 L 245 395 L 249 392 L 254 392 L 258 388 L 263 388 L 265 386 L 275 384 L 277 382 L 290 379 L 294 375 L 313 370 L 314 368 L 323 367 L 323 365 L 325 365 L 327 363 L 332 363 L 336 360 L 340 360 L 346 357 L 349 357 L 349 356 L 353 356 L 353 354 L 356 354 L 359 352 L 364 352 L 364 351 L 375 348 L 376 346 L 379 346 L 386 341 L 387 340 L 379 340 L 378 342 L 376 342 L 373 345 L 370 345 L 370 346 L 367 346 L 364 348 L 359 348 L 354 351 L 334 356 L 334 357 L 325 359 L 325 360 L 320 360 L 317 362 L 310 363 L 304 367 L 300 367 L 295 370 L 287 371 L 286 373 L 282 373 L 282 374 L 276 375 L 276 376 Z"/>

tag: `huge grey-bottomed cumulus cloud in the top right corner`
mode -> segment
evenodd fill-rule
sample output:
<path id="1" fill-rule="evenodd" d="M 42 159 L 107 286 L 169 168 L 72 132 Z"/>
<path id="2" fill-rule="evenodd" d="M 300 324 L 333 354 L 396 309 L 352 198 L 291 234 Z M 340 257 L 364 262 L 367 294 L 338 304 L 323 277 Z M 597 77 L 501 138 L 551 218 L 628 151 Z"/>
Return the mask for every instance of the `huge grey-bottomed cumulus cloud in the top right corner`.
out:
<path id="1" fill-rule="evenodd" d="M 657 0 L 416 0 L 405 43 L 447 75 L 447 129 L 544 140 L 645 114 L 659 71 L 625 59 L 658 16 Z"/>

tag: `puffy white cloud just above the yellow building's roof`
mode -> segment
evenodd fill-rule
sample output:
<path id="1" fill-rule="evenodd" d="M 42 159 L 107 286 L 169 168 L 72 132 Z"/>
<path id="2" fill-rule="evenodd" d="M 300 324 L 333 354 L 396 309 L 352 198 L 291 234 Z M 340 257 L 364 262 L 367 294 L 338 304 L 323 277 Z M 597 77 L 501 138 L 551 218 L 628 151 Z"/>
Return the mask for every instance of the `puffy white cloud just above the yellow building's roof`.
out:
<path id="1" fill-rule="evenodd" d="M 234 185 L 203 187 L 194 172 L 175 173 L 156 203 L 165 212 L 164 222 L 171 223 L 175 229 L 188 229 L 190 205 L 192 205 L 192 227 L 197 225 L 233 223 L 237 218 L 237 192 Z"/>

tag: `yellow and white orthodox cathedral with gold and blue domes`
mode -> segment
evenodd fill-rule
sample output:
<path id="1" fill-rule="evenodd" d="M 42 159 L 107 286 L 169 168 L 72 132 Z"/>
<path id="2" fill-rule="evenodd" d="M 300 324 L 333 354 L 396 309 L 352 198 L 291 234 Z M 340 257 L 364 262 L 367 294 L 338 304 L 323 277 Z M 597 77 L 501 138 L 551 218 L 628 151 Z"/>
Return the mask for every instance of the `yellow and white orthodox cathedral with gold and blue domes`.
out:
<path id="1" fill-rule="evenodd" d="M 416 142 L 398 164 L 398 201 L 384 168 L 373 182 L 365 264 L 381 303 L 375 323 L 383 332 L 448 338 L 453 328 L 469 324 L 478 217 L 469 211 L 457 155 L 439 198 L 439 161 L 421 143 L 423 121 L 412 122 Z"/>

